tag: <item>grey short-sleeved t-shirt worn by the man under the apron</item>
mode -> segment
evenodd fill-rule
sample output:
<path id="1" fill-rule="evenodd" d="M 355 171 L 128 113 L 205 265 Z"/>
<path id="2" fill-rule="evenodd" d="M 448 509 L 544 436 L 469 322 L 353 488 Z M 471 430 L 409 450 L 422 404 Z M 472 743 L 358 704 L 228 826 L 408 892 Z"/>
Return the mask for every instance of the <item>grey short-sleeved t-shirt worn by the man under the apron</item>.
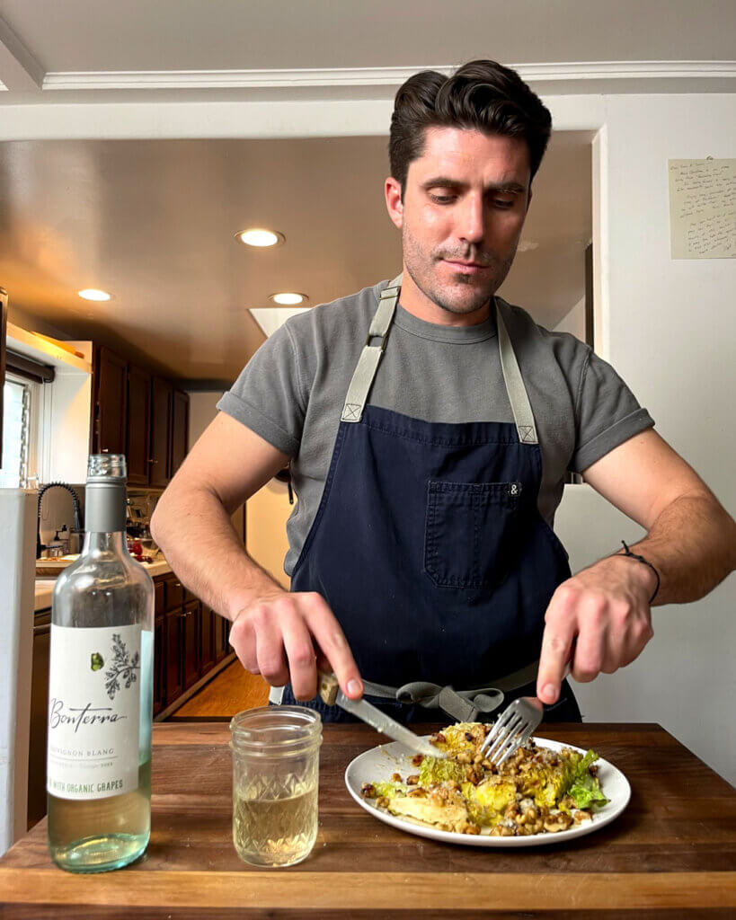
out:
<path id="1" fill-rule="evenodd" d="M 217 404 L 292 457 L 298 501 L 286 525 L 287 575 L 319 507 L 348 386 L 387 284 L 287 320 Z M 551 527 L 566 471 L 582 472 L 654 422 L 587 345 L 496 299 L 535 416 L 543 470 L 539 511 Z M 425 421 L 513 422 L 492 311 L 477 326 L 447 327 L 399 303 L 368 402 Z"/>

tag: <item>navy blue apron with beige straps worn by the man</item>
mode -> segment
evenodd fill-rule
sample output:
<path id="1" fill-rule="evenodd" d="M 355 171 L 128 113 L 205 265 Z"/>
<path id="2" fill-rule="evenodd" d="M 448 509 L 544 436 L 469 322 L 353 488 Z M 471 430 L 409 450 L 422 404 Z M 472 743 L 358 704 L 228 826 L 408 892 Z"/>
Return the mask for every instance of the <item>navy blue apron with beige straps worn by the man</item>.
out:
<path id="1" fill-rule="evenodd" d="M 366 405 L 401 277 L 381 293 L 292 591 L 328 602 L 366 699 L 400 721 L 441 721 L 443 686 L 470 703 L 477 697 L 485 712 L 535 696 L 546 607 L 570 571 L 537 507 L 542 456 L 498 305 L 513 423 L 428 422 Z M 270 700 L 296 702 L 291 686 Z M 354 720 L 319 697 L 300 705 L 326 721 Z M 458 719 L 478 711 L 444 708 Z M 568 684 L 547 708 L 551 718 L 580 720 Z"/>

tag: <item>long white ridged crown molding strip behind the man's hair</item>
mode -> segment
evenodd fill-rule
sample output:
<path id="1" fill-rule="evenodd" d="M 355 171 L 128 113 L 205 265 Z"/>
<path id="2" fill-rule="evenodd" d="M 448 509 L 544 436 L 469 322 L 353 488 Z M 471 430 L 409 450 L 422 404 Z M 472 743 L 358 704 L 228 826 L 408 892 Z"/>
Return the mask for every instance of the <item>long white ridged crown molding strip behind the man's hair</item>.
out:
<path id="1" fill-rule="evenodd" d="M 529 83 L 587 80 L 734 79 L 736 61 L 602 61 L 510 64 Z M 344 67 L 302 70 L 170 70 L 48 73 L 41 88 L 58 90 L 262 89 L 401 86 L 420 70 L 450 75 L 455 66 Z"/>

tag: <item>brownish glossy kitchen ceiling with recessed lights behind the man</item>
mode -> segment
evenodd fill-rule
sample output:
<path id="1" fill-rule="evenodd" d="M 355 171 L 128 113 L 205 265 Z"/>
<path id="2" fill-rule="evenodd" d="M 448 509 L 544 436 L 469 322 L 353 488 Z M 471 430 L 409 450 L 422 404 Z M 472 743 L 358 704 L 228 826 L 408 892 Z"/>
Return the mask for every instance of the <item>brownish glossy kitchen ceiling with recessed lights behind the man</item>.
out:
<path id="1" fill-rule="evenodd" d="M 231 379 L 263 340 L 249 307 L 310 305 L 393 277 L 385 138 L 0 144 L 0 283 L 12 310 L 75 339 L 124 341 L 178 378 Z M 247 226 L 286 243 L 253 249 Z M 554 326 L 583 295 L 591 136 L 553 135 L 500 293 Z M 113 294 L 92 304 L 85 287 Z M 42 331 L 42 329 L 41 329 Z"/>

